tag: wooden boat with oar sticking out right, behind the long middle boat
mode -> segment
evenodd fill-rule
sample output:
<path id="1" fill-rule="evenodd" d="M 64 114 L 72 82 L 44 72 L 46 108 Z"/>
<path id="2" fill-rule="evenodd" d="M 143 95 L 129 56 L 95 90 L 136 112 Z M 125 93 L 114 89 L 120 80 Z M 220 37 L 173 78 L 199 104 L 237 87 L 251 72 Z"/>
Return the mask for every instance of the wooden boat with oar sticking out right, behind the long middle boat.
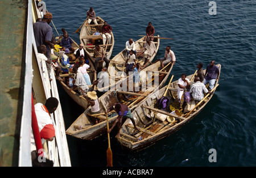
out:
<path id="1" fill-rule="evenodd" d="M 154 43 L 155 43 L 155 48 L 157 53 L 160 45 L 160 39 L 158 37 L 155 37 Z M 137 54 L 139 54 L 139 53 L 142 53 L 144 45 L 146 44 L 146 41 L 144 41 L 144 37 L 142 37 L 141 39 L 135 41 L 134 44 L 135 44 L 135 49 L 137 51 Z M 153 56 L 151 56 L 151 58 L 149 59 L 150 62 L 154 59 L 156 53 L 154 53 Z M 126 67 L 123 66 L 126 60 L 127 60 L 127 52 L 126 52 L 126 49 L 123 49 L 110 61 L 110 65 L 108 67 L 108 73 L 110 74 L 110 71 L 114 71 L 115 78 L 121 77 L 122 71 L 126 72 Z M 144 57 L 139 57 L 137 62 L 141 63 L 141 66 L 143 66 L 144 60 L 145 60 Z M 150 63 L 148 62 L 147 66 L 149 64 Z"/>

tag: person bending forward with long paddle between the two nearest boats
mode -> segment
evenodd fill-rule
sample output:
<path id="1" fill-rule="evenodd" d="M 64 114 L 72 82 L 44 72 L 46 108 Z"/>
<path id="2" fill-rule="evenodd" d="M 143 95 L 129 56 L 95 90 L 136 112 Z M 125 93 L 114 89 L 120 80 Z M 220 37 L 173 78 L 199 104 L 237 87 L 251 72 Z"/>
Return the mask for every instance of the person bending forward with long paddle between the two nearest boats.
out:
<path id="1" fill-rule="evenodd" d="M 112 111 L 113 109 L 117 113 L 118 117 L 115 119 L 112 128 L 108 130 L 108 133 L 110 133 L 115 127 L 115 125 L 117 125 L 117 137 L 120 137 L 120 129 L 122 126 L 122 122 L 125 122 L 127 118 L 130 118 L 131 122 L 134 125 L 134 129 L 139 130 L 135 124 L 133 114 L 131 113 L 131 110 L 127 107 L 127 105 L 115 103 L 112 107 L 108 109 L 108 111 L 105 111 L 105 114 L 108 115 L 108 112 Z M 125 118 L 124 121 L 123 118 Z"/>

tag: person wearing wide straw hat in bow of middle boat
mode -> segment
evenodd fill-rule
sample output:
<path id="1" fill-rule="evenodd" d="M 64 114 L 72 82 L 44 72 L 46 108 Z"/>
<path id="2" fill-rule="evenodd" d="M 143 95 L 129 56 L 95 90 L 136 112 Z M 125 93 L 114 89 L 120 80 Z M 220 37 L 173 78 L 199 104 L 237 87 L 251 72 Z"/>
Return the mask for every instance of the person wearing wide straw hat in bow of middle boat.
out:
<path id="1" fill-rule="evenodd" d="M 89 109 L 89 113 L 90 115 L 95 115 L 95 114 L 99 114 L 100 112 L 100 104 L 98 101 L 98 96 L 96 91 L 88 91 L 87 94 L 85 93 L 85 91 L 82 90 L 82 95 L 84 96 L 84 98 L 90 103 L 90 109 Z M 94 124 L 98 124 L 101 120 L 100 118 L 95 118 L 95 122 Z"/>

